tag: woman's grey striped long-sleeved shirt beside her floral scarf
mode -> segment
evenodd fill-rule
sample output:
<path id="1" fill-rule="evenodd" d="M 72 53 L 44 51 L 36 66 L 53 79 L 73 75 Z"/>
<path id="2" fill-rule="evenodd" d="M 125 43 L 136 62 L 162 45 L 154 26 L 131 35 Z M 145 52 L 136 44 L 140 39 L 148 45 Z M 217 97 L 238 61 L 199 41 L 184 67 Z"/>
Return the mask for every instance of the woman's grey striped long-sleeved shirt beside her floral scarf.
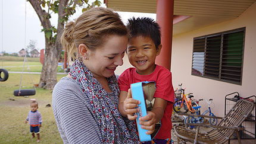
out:
<path id="1" fill-rule="evenodd" d="M 64 143 L 102 142 L 90 101 L 73 79 L 64 77 L 55 85 L 52 109 Z"/>

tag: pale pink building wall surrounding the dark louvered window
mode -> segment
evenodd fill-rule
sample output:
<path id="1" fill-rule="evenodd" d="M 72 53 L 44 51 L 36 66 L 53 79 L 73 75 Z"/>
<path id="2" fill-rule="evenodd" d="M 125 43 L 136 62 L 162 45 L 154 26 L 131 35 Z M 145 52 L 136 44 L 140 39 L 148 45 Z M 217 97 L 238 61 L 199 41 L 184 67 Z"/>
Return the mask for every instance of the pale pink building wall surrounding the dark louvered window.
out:
<path id="1" fill-rule="evenodd" d="M 171 72 L 173 74 L 173 86 L 183 83 L 186 92 L 193 92 L 196 99 L 213 98 L 214 114 L 224 115 L 224 97 L 227 94 L 238 91 L 241 97 L 256 95 L 256 3 L 246 9 L 235 20 L 211 25 L 189 33 L 173 36 L 173 48 L 171 56 Z M 243 55 L 242 85 L 230 84 L 213 79 L 191 75 L 193 38 L 207 34 L 219 33 L 246 27 L 245 47 Z M 206 103 L 201 102 L 203 110 Z"/>

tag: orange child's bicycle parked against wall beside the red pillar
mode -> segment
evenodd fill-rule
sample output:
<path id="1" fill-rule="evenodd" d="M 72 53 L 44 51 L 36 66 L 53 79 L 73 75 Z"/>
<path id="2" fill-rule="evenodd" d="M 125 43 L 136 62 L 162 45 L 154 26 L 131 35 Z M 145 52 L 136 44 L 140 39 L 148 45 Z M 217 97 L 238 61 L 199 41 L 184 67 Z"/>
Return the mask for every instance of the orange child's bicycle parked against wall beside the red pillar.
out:
<path id="1" fill-rule="evenodd" d="M 198 107 L 198 101 L 196 101 L 193 98 L 193 93 L 185 94 L 185 89 L 182 88 L 182 84 L 179 84 L 178 93 L 176 93 L 176 100 L 173 104 L 173 110 L 176 113 L 188 113 L 190 111 L 191 113 L 199 113 L 200 109 L 193 109 L 193 107 Z M 181 98 L 182 95 L 182 98 Z M 188 95 L 189 101 L 186 98 L 186 95 Z"/>

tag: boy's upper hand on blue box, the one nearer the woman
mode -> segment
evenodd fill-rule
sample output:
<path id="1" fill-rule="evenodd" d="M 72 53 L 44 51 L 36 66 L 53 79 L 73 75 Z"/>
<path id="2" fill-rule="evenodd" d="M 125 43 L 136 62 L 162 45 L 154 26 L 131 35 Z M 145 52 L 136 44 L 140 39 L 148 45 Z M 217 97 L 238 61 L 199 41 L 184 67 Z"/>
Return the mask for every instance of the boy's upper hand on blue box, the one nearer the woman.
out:
<path id="1" fill-rule="evenodd" d="M 132 92 L 128 89 L 127 97 L 124 100 L 124 111 L 127 114 L 129 120 L 135 120 L 138 116 L 134 113 L 138 112 L 138 104 L 141 102 L 132 98 Z"/>

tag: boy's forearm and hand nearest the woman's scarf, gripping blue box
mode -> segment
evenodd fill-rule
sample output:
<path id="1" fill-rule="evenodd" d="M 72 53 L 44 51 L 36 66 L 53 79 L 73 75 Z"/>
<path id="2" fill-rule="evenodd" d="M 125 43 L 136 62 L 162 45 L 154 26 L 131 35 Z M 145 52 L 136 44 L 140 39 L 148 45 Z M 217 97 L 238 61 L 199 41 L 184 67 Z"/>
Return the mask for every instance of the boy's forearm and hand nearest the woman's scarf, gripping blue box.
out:
<path id="1" fill-rule="evenodd" d="M 127 117 L 129 120 L 135 120 L 136 115 L 133 115 L 138 110 L 139 101 L 132 98 L 130 89 L 127 91 L 120 91 L 118 110 L 123 117 Z"/>

